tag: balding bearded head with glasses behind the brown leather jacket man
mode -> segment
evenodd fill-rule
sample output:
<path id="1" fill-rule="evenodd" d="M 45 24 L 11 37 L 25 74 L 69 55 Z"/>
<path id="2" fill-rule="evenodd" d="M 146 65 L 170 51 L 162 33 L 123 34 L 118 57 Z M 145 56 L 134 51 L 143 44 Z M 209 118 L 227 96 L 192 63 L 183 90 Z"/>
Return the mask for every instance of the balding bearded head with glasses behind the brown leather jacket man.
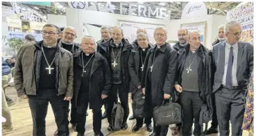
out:
<path id="1" fill-rule="evenodd" d="M 64 43 L 73 43 L 73 41 L 76 39 L 76 34 L 76 28 L 72 26 L 67 26 L 62 31 L 61 41 Z"/>

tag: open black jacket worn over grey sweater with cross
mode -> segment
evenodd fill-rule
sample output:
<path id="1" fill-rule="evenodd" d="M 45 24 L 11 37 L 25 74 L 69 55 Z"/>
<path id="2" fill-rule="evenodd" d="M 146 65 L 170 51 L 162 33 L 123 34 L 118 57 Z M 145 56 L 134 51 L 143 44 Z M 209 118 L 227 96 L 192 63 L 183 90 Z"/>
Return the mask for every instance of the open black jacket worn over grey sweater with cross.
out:
<path id="1" fill-rule="evenodd" d="M 189 53 L 189 44 L 178 52 L 178 67 L 176 75 L 176 84 L 182 83 L 182 71 L 184 70 L 185 60 Z M 201 61 L 198 66 L 198 86 L 200 95 L 205 104 L 212 109 L 212 53 L 203 45 L 198 49 L 198 56 Z"/>

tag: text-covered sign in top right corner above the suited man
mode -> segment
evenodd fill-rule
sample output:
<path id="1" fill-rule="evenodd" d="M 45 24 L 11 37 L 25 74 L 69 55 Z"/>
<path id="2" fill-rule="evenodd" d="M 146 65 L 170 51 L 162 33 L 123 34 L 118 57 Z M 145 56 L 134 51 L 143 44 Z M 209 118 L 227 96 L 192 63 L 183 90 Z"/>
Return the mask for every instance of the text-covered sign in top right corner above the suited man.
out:
<path id="1" fill-rule="evenodd" d="M 253 44 L 253 2 L 244 3 L 227 12 L 226 20 L 237 20 L 241 23 L 242 33 L 240 41 Z"/>

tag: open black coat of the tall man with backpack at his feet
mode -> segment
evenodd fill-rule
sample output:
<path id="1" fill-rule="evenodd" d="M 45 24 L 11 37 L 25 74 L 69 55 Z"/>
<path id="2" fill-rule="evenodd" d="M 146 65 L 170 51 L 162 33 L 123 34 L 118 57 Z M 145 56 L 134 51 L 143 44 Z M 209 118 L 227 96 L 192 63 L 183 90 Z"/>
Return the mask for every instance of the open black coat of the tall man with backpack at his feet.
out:
<path id="1" fill-rule="evenodd" d="M 98 52 L 101 53 L 107 60 L 109 67 L 111 68 L 111 50 L 112 46 L 110 46 L 110 43 L 113 39 L 110 39 L 109 41 L 103 42 L 98 46 Z M 128 59 L 130 56 L 131 50 L 133 50 L 133 46 L 129 43 L 128 40 L 122 39 L 121 42 L 123 42 L 123 50 L 121 52 L 121 68 L 122 68 L 122 76 L 123 76 L 123 88 L 124 91 L 129 91 L 129 84 L 130 84 L 130 75 L 128 70 Z"/>

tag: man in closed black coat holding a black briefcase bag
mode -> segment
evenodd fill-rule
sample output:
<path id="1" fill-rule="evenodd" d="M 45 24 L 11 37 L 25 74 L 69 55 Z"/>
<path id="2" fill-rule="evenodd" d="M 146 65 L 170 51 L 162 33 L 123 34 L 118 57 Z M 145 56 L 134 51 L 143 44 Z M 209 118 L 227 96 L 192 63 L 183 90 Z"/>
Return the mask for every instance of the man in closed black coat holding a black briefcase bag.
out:
<path id="1" fill-rule="evenodd" d="M 142 91 L 145 92 L 146 117 L 152 117 L 153 109 L 166 103 L 171 98 L 171 92 L 175 81 L 177 53 L 167 43 L 167 29 L 159 27 L 155 29 L 155 48 L 148 52 L 142 75 Z M 156 126 L 153 118 L 153 134 L 167 135 L 167 126 Z"/>

